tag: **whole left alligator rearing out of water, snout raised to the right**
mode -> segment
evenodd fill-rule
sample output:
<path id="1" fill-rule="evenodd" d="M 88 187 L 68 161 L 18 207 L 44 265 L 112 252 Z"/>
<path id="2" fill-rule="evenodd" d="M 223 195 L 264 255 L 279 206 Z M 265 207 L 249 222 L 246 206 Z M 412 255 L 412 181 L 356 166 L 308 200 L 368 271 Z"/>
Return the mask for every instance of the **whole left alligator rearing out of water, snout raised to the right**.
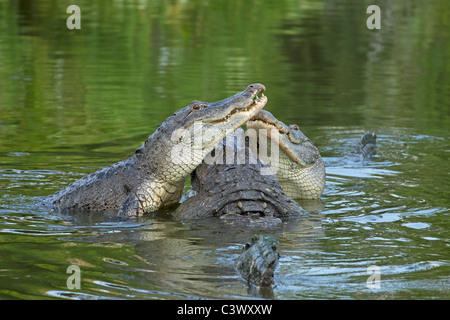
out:
<path id="1" fill-rule="evenodd" d="M 131 158 L 75 181 L 45 203 L 57 210 L 114 212 L 121 218 L 178 203 L 185 178 L 264 107 L 264 91 L 257 83 L 218 102 L 191 102 L 168 117 Z"/>

